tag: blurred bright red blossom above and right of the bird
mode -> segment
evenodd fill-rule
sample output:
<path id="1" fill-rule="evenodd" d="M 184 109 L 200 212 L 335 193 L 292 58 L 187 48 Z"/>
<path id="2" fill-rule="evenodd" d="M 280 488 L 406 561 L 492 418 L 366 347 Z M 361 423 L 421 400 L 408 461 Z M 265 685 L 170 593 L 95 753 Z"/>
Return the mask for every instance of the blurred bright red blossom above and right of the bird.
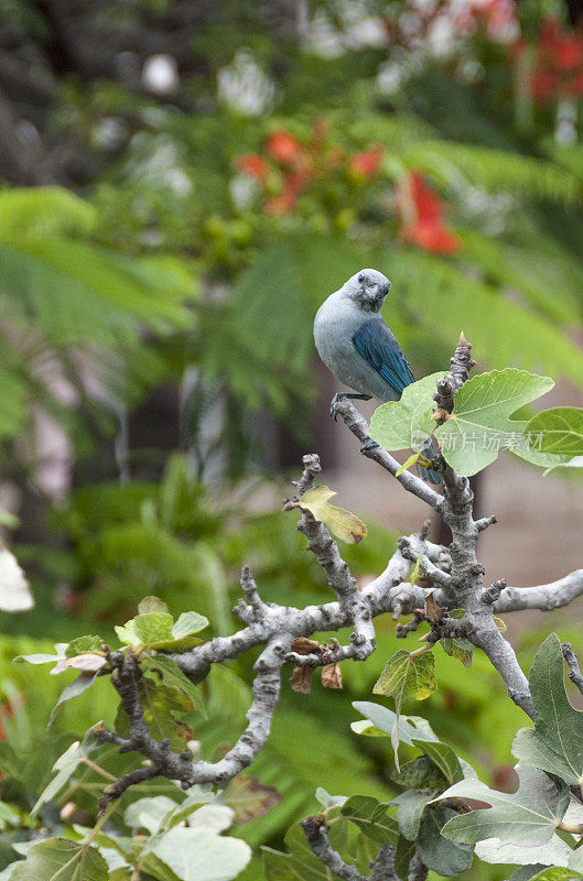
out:
<path id="1" fill-rule="evenodd" d="M 443 205 L 419 172 L 409 172 L 397 188 L 395 207 L 401 221 L 399 238 L 424 251 L 455 254 L 460 238 L 443 222 Z"/>

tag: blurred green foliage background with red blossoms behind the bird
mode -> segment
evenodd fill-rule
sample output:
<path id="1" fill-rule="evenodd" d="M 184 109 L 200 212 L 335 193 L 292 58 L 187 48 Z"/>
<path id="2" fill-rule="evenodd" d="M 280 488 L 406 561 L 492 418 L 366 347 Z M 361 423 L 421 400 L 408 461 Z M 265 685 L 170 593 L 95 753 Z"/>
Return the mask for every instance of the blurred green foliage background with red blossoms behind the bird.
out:
<path id="1" fill-rule="evenodd" d="M 385 315 L 418 377 L 447 365 L 463 328 L 479 368 L 548 373 L 561 403 L 581 403 L 576 8 L 0 6 L 0 505 L 35 599 L 1 614 L 0 730 L 28 769 L 26 792 L 114 703 L 99 683 L 47 735 L 68 674 L 12 667 L 14 654 L 87 632 L 110 640 L 151 594 L 229 633 L 245 562 L 266 599 L 330 599 L 279 501 L 312 449 L 334 475 L 326 482 L 350 486 L 357 450 L 330 422 L 336 388 L 314 355 L 312 322 L 359 268 L 391 279 Z M 411 526 L 400 497 L 378 518 L 379 493 L 396 490 L 370 468 L 350 497 L 369 534 L 343 548 L 363 577 L 384 568 Z M 559 577 L 580 554 L 581 482 L 505 468 L 486 472 L 477 493 L 508 510 L 512 573 L 539 579 L 510 498 L 527 486 L 525 505 L 558 551 L 543 565 Z M 559 510 L 572 531 L 566 561 Z M 423 516 L 415 509 L 412 522 Z M 495 545 L 487 558 L 508 562 Z M 523 621 L 512 638 L 525 666 L 551 628 L 583 649 L 572 610 Z M 400 648 L 395 622 L 378 630 L 378 651 L 346 665 L 343 692 L 284 687 L 253 765 L 282 800 L 237 830 L 253 846 L 280 847 L 314 809 L 315 785 L 382 801 L 393 791 L 390 747 L 349 730 L 350 700 L 367 699 Z M 195 731 L 206 757 L 240 731 L 253 660 L 205 683 L 209 719 Z M 482 657 L 466 671 L 443 654 L 439 673 L 422 711 L 488 782 L 511 786 L 520 711 Z M 256 877 L 253 863 L 246 878 Z"/>

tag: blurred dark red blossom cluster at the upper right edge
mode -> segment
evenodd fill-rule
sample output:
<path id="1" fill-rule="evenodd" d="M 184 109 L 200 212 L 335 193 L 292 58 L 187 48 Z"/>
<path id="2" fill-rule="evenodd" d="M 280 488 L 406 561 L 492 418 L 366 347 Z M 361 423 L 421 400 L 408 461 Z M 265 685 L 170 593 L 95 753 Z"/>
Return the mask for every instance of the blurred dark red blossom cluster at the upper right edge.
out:
<path id="1" fill-rule="evenodd" d="M 528 88 L 541 102 L 552 98 L 579 98 L 583 95 L 583 36 L 568 34 L 555 19 L 542 23 L 535 46 L 517 40 L 511 47 L 515 64 L 532 52 Z"/>

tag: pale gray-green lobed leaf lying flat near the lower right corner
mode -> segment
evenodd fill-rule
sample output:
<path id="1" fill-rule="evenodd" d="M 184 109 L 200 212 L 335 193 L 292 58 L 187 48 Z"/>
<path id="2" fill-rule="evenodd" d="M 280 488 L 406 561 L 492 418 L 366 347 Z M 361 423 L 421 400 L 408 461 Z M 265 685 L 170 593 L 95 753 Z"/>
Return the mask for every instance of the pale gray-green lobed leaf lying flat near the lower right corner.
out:
<path id="1" fill-rule="evenodd" d="M 443 835 L 468 844 L 485 838 L 522 847 L 550 841 L 569 805 L 569 790 L 537 768 L 517 765 L 517 773 L 520 785 L 516 793 L 490 790 L 478 780 L 462 780 L 441 793 L 439 800 L 467 797 L 492 805 L 454 817 Z"/>

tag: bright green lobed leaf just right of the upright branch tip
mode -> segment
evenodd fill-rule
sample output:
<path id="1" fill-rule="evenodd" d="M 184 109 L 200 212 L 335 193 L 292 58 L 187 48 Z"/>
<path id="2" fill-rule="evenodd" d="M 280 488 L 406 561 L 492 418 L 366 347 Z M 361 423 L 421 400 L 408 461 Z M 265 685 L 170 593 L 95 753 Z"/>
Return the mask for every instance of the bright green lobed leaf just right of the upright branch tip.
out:
<path id="1" fill-rule="evenodd" d="M 447 463 L 469 477 L 495 461 L 501 447 L 528 458 L 526 422 L 509 416 L 553 385 L 549 377 L 515 368 L 468 379 L 455 395 L 450 418 L 435 431 Z"/>

